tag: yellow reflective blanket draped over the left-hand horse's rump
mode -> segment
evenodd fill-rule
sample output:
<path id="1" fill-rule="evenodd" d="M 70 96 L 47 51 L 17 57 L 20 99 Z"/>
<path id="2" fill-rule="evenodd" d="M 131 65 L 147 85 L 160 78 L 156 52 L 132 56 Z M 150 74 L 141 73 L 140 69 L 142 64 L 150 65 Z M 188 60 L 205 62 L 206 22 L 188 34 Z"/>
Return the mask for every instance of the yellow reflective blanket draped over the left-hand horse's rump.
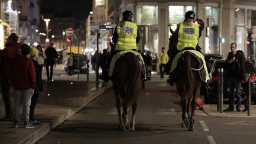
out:
<path id="1" fill-rule="evenodd" d="M 146 72 L 145 63 L 143 61 L 142 55 L 140 55 L 139 52 L 136 52 L 134 50 L 123 50 L 121 52 L 116 53 L 116 55 L 114 55 L 112 57 L 111 62 L 110 62 L 110 68 L 109 68 L 109 71 L 108 71 L 108 76 L 111 77 L 113 75 L 114 66 L 116 65 L 117 60 L 122 55 L 124 55 L 125 53 L 134 53 L 137 57 L 139 57 L 139 59 L 140 59 L 140 66 L 142 67 L 142 72 L 143 72 L 143 74 Z"/>

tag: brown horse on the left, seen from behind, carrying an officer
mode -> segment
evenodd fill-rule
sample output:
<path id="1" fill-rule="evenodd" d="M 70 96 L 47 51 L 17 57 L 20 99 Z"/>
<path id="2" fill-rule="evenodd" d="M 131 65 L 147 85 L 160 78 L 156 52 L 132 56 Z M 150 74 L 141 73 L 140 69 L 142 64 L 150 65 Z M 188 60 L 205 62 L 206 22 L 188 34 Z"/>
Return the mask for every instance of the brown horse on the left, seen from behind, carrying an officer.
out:
<path id="1" fill-rule="evenodd" d="M 124 131 L 135 131 L 135 113 L 137 109 L 137 98 L 141 83 L 140 59 L 133 53 L 125 53 L 117 60 L 114 67 L 113 83 L 116 95 L 116 108 L 119 114 L 119 126 Z M 128 108 L 132 104 L 132 120 L 127 116 Z M 123 113 L 121 113 L 123 107 Z"/>

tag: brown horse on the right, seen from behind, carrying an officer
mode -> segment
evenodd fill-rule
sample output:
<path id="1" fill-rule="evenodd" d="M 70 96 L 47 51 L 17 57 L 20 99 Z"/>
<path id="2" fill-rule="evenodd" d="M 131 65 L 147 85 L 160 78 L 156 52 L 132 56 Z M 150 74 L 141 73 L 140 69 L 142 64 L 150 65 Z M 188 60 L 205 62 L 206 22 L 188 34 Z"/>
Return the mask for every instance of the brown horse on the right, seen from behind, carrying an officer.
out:
<path id="1" fill-rule="evenodd" d="M 173 34 L 174 31 L 172 31 L 171 28 L 170 31 Z M 176 47 L 176 43 L 172 37 L 170 37 L 169 49 L 173 49 L 173 46 Z M 181 127 L 188 127 L 188 131 L 195 131 L 194 111 L 197 107 L 197 98 L 200 94 L 200 87 L 202 82 L 199 72 L 195 71 L 196 68 L 199 68 L 199 62 L 196 57 L 192 56 L 189 52 L 185 52 L 177 64 L 176 69 L 178 73 L 177 76 L 173 79 L 181 100 Z"/>

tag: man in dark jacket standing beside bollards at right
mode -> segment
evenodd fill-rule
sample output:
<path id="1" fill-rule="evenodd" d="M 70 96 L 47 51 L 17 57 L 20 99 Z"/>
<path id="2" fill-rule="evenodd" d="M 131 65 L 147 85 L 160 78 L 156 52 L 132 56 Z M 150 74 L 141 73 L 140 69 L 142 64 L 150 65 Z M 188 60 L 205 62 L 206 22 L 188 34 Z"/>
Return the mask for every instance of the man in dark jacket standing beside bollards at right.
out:
<path id="1" fill-rule="evenodd" d="M 245 79 L 244 54 L 236 51 L 236 43 L 231 43 L 231 52 L 226 60 L 228 67 L 229 107 L 223 111 L 234 111 L 236 97 L 236 111 L 241 111 L 241 82 Z"/>

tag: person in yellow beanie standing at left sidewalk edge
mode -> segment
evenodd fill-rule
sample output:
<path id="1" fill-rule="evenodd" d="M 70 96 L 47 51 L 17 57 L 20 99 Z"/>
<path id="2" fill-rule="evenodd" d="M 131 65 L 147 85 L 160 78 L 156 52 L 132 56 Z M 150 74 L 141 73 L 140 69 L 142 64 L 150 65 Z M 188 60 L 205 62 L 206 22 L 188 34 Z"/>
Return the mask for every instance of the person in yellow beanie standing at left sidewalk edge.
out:
<path id="1" fill-rule="evenodd" d="M 43 82 L 41 79 L 41 73 L 40 73 L 40 67 L 39 63 L 37 62 L 37 59 L 39 57 L 39 50 L 32 47 L 30 50 L 30 59 L 34 63 L 34 68 L 36 70 L 36 87 L 34 88 L 34 93 L 31 98 L 31 105 L 30 105 L 30 119 L 29 122 L 33 124 L 34 126 L 41 124 L 40 121 L 37 121 L 34 118 L 34 110 L 37 105 L 37 99 L 39 97 L 39 91 L 43 91 Z"/>

